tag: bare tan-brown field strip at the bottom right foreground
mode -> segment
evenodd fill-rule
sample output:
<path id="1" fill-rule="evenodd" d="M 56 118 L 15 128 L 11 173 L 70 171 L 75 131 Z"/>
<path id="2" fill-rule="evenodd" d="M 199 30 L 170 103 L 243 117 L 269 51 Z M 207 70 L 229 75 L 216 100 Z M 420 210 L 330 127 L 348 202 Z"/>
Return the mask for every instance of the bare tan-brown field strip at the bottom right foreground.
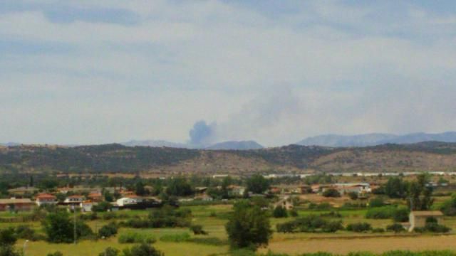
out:
<path id="1" fill-rule="evenodd" d="M 289 253 L 305 252 L 385 252 L 390 250 L 456 250 L 456 235 L 420 236 L 412 238 L 356 238 L 271 241 L 261 252 Z"/>

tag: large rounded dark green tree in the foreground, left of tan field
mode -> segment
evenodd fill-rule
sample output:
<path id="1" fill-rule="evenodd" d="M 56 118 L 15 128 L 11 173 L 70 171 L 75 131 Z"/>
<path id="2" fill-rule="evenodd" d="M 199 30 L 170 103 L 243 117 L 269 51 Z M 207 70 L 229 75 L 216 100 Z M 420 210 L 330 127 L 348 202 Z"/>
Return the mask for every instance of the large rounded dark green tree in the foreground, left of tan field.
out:
<path id="1" fill-rule="evenodd" d="M 266 212 L 248 201 L 234 204 L 234 212 L 225 226 L 232 247 L 256 249 L 267 245 L 272 230 Z"/>

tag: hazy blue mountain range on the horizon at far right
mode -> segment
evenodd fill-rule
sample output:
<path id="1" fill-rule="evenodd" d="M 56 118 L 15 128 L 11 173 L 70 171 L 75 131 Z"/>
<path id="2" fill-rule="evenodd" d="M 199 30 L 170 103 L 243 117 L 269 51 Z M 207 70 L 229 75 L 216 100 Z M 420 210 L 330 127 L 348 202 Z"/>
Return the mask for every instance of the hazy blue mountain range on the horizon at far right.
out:
<path id="1" fill-rule="evenodd" d="M 413 133 L 395 134 L 361 134 L 344 136 L 336 134 L 321 135 L 303 139 L 297 144 L 303 146 L 375 146 L 381 144 L 413 144 L 419 142 L 456 142 L 456 132 L 440 134 Z"/>

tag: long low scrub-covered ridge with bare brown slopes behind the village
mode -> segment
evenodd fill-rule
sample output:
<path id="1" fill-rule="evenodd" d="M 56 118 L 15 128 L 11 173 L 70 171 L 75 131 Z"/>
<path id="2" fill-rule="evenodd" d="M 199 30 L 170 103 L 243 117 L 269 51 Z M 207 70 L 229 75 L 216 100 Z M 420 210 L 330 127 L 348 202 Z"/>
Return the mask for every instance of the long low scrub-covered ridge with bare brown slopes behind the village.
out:
<path id="1" fill-rule="evenodd" d="M 0 146 L 0 172 L 248 174 L 302 171 L 456 171 L 456 144 L 423 142 L 246 151 L 123 146 Z"/>

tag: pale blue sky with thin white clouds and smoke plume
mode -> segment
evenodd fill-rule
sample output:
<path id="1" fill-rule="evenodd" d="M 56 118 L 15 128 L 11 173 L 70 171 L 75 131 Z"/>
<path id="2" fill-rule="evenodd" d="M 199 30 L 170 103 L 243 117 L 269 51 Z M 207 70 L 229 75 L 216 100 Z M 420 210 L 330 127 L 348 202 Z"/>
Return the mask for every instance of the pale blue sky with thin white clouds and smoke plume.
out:
<path id="1" fill-rule="evenodd" d="M 455 1 L 0 4 L 0 142 L 445 132 L 455 78 Z"/>

